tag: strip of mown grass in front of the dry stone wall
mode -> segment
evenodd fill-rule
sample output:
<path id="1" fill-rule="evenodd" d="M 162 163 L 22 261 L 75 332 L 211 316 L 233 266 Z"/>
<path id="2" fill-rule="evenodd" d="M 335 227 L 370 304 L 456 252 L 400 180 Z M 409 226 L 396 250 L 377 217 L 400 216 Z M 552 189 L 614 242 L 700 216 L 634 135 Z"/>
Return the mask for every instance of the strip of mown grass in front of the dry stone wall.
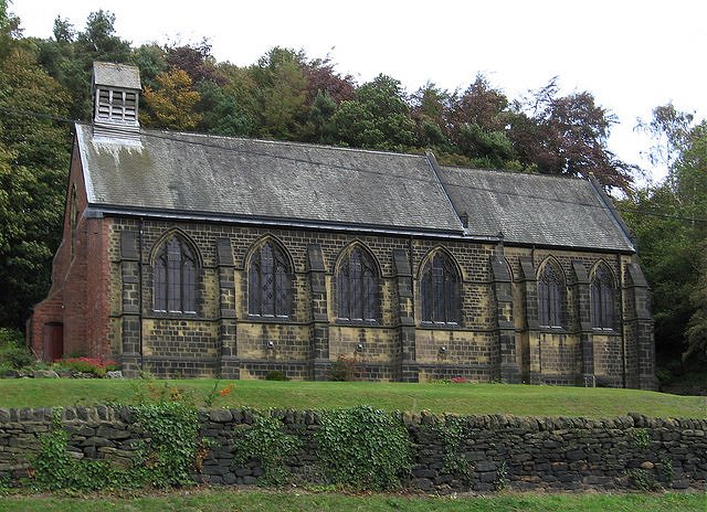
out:
<path id="1" fill-rule="evenodd" d="M 88 499 L 86 499 L 88 498 Z M 412 511 L 412 512 L 704 512 L 704 493 L 667 494 L 514 494 L 483 498 L 420 495 L 344 495 L 303 491 L 190 490 L 137 498 L 6 497 L 0 511 Z"/>

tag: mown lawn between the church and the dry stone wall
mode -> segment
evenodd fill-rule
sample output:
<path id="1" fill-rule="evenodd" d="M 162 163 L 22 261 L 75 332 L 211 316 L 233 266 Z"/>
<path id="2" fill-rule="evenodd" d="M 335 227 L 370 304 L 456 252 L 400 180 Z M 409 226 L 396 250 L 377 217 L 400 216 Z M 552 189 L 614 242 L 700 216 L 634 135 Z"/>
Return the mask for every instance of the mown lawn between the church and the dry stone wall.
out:
<path id="1" fill-rule="evenodd" d="M 637 390 L 510 384 L 405 384 L 374 382 L 221 381 L 233 390 L 215 407 L 327 409 L 371 405 L 387 410 L 460 415 L 707 417 L 707 397 Z M 134 403 L 140 393 L 179 388 L 197 405 L 213 380 L 0 380 L 0 407 L 51 407 Z"/>

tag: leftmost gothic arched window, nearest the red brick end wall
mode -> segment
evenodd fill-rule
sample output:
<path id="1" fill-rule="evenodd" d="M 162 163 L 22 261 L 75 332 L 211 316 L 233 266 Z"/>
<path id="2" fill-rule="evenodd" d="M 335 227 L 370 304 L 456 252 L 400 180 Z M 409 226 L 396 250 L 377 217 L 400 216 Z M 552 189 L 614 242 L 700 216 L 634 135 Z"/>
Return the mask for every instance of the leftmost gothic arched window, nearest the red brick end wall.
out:
<path id="1" fill-rule="evenodd" d="M 177 235 L 165 241 L 157 252 L 154 303 L 156 311 L 197 311 L 197 259 Z"/>

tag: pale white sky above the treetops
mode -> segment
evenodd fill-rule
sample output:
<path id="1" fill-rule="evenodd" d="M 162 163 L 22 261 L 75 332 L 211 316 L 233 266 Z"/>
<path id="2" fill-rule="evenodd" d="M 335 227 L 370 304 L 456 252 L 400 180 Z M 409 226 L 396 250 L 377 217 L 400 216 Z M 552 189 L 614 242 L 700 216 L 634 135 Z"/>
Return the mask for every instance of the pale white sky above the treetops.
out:
<path id="1" fill-rule="evenodd" d="M 250 65 L 273 46 L 329 55 L 362 84 L 380 73 L 409 93 L 426 82 L 464 89 L 483 73 L 510 98 L 553 76 L 562 94 L 589 90 L 619 119 L 609 148 L 653 180 L 636 132 L 658 105 L 707 117 L 704 0 L 10 0 L 27 36 L 50 38 L 54 19 L 83 30 L 99 9 L 134 46 L 198 43 L 218 61 Z"/>

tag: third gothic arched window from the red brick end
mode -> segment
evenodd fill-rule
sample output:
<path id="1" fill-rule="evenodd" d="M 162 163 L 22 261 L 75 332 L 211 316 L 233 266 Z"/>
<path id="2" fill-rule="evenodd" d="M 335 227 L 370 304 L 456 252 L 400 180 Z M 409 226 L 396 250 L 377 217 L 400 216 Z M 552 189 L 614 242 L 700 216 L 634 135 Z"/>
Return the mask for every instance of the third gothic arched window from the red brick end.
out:
<path id="1" fill-rule="evenodd" d="M 378 320 L 378 273 L 373 259 L 359 247 L 341 260 L 336 277 L 337 314 L 346 320 Z"/>

